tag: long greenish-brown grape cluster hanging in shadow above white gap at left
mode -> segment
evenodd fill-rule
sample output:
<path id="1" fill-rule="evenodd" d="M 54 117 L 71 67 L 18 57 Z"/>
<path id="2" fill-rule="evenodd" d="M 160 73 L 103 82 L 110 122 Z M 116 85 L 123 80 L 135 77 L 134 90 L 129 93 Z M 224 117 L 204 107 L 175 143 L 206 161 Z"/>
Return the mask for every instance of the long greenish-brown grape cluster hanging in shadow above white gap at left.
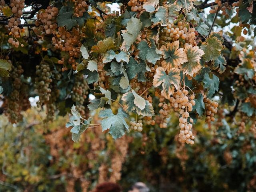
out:
<path id="1" fill-rule="evenodd" d="M 52 82 L 52 72 L 49 64 L 42 61 L 40 65 L 37 65 L 36 75 L 36 89 L 40 98 L 37 106 L 40 107 L 40 104 L 42 105 L 48 103 L 51 97 L 52 90 L 50 88 L 50 83 Z"/>

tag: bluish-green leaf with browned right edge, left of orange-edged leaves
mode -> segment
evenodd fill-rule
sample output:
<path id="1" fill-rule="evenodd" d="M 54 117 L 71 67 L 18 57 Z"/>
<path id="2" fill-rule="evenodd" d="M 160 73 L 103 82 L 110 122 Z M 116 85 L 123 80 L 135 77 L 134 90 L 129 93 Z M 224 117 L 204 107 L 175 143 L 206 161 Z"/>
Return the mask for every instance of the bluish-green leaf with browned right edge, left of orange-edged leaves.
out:
<path id="1" fill-rule="evenodd" d="M 154 40 L 150 39 L 151 47 L 148 46 L 146 41 L 141 41 L 138 45 L 139 57 L 144 61 L 148 61 L 152 64 L 156 64 L 157 60 L 162 58 L 161 51 L 156 48 Z"/>

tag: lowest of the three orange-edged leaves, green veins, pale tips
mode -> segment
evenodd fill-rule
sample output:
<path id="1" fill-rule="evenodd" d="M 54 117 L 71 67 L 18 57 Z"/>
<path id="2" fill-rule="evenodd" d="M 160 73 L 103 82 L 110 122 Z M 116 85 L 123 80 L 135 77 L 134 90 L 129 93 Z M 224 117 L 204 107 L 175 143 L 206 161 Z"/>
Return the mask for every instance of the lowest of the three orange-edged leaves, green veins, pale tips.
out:
<path id="1" fill-rule="evenodd" d="M 163 84 L 162 84 L 163 83 Z M 158 87 L 162 84 L 162 96 L 169 99 L 170 95 L 174 93 L 174 87 L 178 90 L 180 84 L 180 70 L 178 68 L 171 68 L 169 74 L 166 74 L 164 68 L 156 68 L 153 85 Z M 172 86 L 174 85 L 174 86 Z"/>

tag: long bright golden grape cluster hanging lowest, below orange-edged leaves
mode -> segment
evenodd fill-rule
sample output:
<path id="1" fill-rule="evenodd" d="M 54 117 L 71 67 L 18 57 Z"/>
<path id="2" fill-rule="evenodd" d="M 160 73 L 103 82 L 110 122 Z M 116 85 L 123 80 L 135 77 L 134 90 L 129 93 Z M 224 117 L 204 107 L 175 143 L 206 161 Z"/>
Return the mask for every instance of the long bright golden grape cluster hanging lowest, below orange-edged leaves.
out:
<path id="1" fill-rule="evenodd" d="M 180 140 L 181 142 L 186 142 L 187 144 L 194 144 L 192 139 L 195 138 L 191 131 L 192 123 L 194 120 L 190 118 L 189 113 L 192 111 L 193 106 L 196 104 L 195 95 L 192 94 L 188 96 L 188 90 L 178 90 L 174 92 L 173 97 L 170 98 L 171 106 L 174 108 L 174 111 L 179 111 L 181 117 L 179 118 L 180 126 Z M 188 122 L 188 118 L 189 122 Z"/>

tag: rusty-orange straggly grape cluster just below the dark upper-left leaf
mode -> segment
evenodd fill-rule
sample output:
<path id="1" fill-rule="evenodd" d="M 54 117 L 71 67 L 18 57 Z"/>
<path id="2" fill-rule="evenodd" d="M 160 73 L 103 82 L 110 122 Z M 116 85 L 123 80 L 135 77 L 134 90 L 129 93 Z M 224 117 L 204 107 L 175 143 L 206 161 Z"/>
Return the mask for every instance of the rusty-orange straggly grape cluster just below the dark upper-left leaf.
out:
<path id="1" fill-rule="evenodd" d="M 58 33 L 60 34 L 61 39 L 64 40 L 64 42 L 57 42 L 57 39 L 55 37 L 52 38 L 52 42 L 56 42 L 56 48 L 59 48 L 61 51 L 65 51 L 68 53 L 68 55 L 70 56 L 70 58 L 68 58 L 68 64 L 72 66 L 73 70 L 76 70 L 76 66 L 78 65 L 78 62 L 76 62 L 76 58 L 79 58 L 80 47 L 82 46 L 79 30 L 73 28 L 71 32 L 68 32 L 65 30 L 64 27 L 59 27 Z M 64 64 L 64 62 L 64 58 L 58 60 L 58 64 Z M 62 71 L 67 69 L 68 68 L 63 67 Z"/>

